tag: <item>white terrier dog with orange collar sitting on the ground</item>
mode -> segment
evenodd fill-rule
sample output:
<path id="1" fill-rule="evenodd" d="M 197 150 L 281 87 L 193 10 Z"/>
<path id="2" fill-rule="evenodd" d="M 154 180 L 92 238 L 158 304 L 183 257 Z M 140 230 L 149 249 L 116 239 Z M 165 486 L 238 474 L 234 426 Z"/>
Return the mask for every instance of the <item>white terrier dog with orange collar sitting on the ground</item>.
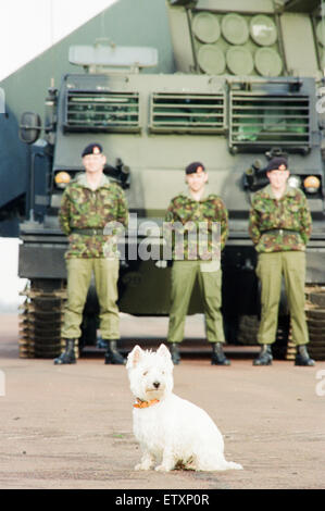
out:
<path id="1" fill-rule="evenodd" d="M 135 470 L 168 472 L 173 469 L 223 471 L 242 469 L 224 458 L 224 440 L 204 410 L 173 394 L 170 350 L 161 345 L 154 351 L 135 346 L 126 369 L 134 404 L 134 434 L 142 458 Z"/>

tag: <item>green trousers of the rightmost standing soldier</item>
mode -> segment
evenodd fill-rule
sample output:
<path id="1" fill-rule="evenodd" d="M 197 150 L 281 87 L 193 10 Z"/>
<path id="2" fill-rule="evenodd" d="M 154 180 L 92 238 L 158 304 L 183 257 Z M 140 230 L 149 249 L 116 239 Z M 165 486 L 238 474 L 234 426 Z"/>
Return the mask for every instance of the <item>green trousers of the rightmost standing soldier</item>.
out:
<path id="1" fill-rule="evenodd" d="M 292 340 L 297 345 L 309 341 L 304 314 L 305 253 L 300 251 L 260 253 L 257 275 L 261 281 L 261 323 L 258 341 L 262 345 L 275 341 L 282 278 L 285 279 Z"/>

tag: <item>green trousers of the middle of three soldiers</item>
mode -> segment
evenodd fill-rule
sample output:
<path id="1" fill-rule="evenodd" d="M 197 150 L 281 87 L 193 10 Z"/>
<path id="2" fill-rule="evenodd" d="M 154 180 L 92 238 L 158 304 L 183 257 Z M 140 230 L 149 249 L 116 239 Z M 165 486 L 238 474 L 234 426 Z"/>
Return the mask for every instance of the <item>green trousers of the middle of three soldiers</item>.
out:
<path id="1" fill-rule="evenodd" d="M 201 271 L 202 261 L 174 261 L 172 267 L 171 310 L 168 342 L 180 342 L 188 306 L 196 278 L 198 278 L 205 315 L 207 339 L 210 342 L 224 342 L 223 317 L 221 313 L 222 271 Z M 211 262 L 211 269 L 213 267 Z M 217 264 L 218 266 L 218 264 Z M 207 266 L 205 266 L 207 267 Z"/>

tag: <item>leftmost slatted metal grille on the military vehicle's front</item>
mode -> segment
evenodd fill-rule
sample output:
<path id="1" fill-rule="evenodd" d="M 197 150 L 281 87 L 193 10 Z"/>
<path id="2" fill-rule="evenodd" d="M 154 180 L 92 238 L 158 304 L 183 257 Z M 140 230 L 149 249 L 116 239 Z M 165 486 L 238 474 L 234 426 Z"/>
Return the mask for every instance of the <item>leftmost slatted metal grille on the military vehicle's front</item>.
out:
<path id="1" fill-rule="evenodd" d="M 64 127 L 68 132 L 137 132 L 139 95 L 68 90 Z"/>

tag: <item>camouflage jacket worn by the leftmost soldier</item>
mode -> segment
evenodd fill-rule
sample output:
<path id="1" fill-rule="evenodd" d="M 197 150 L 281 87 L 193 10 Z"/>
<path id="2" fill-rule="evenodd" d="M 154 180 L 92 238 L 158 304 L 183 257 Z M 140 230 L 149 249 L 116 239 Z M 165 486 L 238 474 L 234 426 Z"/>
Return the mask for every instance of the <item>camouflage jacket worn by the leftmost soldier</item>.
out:
<path id="1" fill-rule="evenodd" d="M 128 209 L 123 189 L 104 174 L 100 186 L 92 190 L 87 185 L 86 174 L 77 177 L 64 190 L 59 221 L 68 236 L 66 259 L 104 258 L 109 250 L 116 251 L 116 235 L 127 225 Z M 85 235 L 74 229 L 98 228 L 104 234 Z M 115 235 L 115 236 L 114 236 Z M 112 239 L 115 241 L 112 244 Z M 110 247 L 108 249 L 108 246 Z M 113 247 L 113 248 L 112 248 Z"/>

